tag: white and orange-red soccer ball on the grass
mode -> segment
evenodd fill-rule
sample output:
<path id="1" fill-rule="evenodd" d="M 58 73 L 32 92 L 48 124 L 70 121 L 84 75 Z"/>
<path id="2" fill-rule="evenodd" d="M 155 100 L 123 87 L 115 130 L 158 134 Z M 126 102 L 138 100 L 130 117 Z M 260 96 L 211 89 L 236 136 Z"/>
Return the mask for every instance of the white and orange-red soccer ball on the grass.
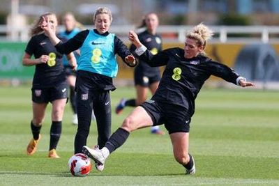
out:
<path id="1" fill-rule="evenodd" d="M 89 157 L 82 153 L 77 153 L 70 157 L 68 167 L 73 176 L 86 176 L 92 168 Z"/>

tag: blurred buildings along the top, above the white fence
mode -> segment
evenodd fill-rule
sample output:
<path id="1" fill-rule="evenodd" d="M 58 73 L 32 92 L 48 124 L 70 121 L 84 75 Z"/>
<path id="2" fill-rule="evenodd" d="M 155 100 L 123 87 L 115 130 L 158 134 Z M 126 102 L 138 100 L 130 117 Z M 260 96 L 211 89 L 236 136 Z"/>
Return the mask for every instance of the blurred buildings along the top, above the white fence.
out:
<path id="1" fill-rule="evenodd" d="M 71 11 L 84 19 L 84 24 L 89 24 L 87 17 L 91 17 L 96 7 L 108 6 L 116 19 L 114 24 L 134 24 L 140 20 L 141 15 L 151 11 L 165 18 L 161 20 L 161 24 L 174 24 L 173 18 L 178 17 L 183 21 L 181 24 L 196 24 L 200 20 L 218 24 L 218 17 L 227 14 L 252 18 L 257 15 L 252 24 L 277 25 L 279 22 L 279 19 L 276 20 L 279 13 L 278 0 L 1 0 L 0 15 L 8 15 L 11 12 L 11 3 L 15 1 L 19 4 L 18 13 L 27 15 L 30 20 L 32 15 L 40 15 L 46 11 L 58 15 Z M 269 20 L 271 16 L 275 18 Z M 258 20 L 259 17 L 263 18 Z"/>

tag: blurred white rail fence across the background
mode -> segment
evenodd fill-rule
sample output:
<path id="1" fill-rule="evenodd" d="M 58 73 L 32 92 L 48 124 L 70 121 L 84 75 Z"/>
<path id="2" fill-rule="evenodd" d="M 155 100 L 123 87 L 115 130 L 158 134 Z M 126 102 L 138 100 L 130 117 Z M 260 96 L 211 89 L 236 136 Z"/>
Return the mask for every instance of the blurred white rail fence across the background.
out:
<path id="1" fill-rule="evenodd" d="M 85 29 L 93 29 L 93 25 L 85 25 Z M 163 36 L 164 42 L 184 42 L 186 32 L 193 26 L 161 25 L 158 33 Z M 211 42 L 220 43 L 278 43 L 279 26 L 209 26 L 215 33 Z M 62 26 L 59 26 L 61 29 Z M 137 30 L 135 25 L 112 25 L 110 31 L 121 39 L 128 39 L 128 31 Z M 6 41 L 27 41 L 29 26 L 13 29 L 0 25 L 0 39 Z"/>

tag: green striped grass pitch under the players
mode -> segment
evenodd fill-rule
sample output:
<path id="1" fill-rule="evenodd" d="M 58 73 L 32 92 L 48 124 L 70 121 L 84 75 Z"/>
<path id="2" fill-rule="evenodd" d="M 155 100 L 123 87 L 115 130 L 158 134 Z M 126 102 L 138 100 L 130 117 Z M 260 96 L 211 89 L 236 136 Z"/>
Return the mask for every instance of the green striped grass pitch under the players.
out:
<path id="1" fill-rule="evenodd" d="M 114 132 L 132 110 L 126 108 L 116 116 L 114 107 L 122 97 L 134 97 L 135 89 L 119 87 L 111 96 Z M 71 124 L 70 105 L 57 148 L 59 160 L 47 157 L 50 108 L 51 104 L 38 151 L 27 156 L 30 86 L 0 87 L 0 185 L 279 185 L 276 91 L 202 89 L 190 128 L 190 153 L 197 169 L 194 176 L 184 175 L 183 167 L 175 162 L 168 134 L 157 136 L 147 128 L 130 134 L 126 144 L 107 159 L 102 173 L 93 168 L 85 178 L 73 177 L 67 164 L 77 126 Z M 91 123 L 87 145 L 95 145 L 96 137 L 96 123 Z"/>

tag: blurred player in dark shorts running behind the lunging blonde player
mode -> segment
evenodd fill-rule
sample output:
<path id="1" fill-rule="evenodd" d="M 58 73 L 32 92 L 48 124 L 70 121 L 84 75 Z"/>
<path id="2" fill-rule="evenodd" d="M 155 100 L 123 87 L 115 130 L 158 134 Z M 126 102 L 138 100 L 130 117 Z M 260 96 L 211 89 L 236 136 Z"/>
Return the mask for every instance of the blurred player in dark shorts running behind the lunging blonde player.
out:
<path id="1" fill-rule="evenodd" d="M 162 38 L 156 33 L 158 24 L 159 19 L 156 13 L 146 14 L 142 25 L 140 26 L 140 28 L 145 26 L 146 30 L 138 36 L 142 45 L 146 46 L 153 55 L 162 50 Z M 135 45 L 130 47 L 130 51 L 135 51 L 135 49 Z M 142 104 L 147 98 L 148 90 L 150 90 L 153 95 L 158 88 L 160 77 L 159 67 L 151 67 L 144 60 L 140 60 L 140 63 L 135 67 L 134 72 L 137 98 L 130 100 L 123 98 L 115 109 L 116 114 L 120 114 L 126 106 L 137 107 Z M 160 130 L 159 126 L 153 126 L 151 127 L 151 134 L 165 134 L 165 132 Z"/>

